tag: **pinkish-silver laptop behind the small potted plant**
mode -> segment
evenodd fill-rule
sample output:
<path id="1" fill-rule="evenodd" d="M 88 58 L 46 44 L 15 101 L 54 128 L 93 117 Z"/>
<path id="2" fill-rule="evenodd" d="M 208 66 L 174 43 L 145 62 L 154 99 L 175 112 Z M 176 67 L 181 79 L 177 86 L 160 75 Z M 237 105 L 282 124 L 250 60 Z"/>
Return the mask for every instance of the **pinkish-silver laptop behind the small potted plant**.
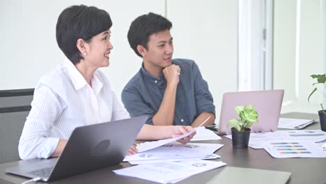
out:
<path id="1" fill-rule="evenodd" d="M 284 90 L 242 91 L 224 93 L 222 109 L 219 117 L 219 135 L 231 134 L 228 121 L 239 118 L 234 107 L 238 105 L 254 105 L 258 112 L 258 123 L 251 126 L 251 132 L 267 132 L 277 130 L 279 114 L 284 96 Z"/>

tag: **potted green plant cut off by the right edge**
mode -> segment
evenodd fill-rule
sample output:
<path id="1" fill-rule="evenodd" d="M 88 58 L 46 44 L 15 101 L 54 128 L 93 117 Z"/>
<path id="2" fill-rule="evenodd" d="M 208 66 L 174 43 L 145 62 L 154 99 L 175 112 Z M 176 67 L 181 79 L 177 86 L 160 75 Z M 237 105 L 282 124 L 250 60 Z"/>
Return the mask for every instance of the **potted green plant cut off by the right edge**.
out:
<path id="1" fill-rule="evenodd" d="M 313 79 L 317 79 L 317 82 L 316 83 L 313 83 L 313 91 L 311 91 L 309 97 L 308 97 L 308 102 L 310 103 L 310 98 L 311 98 L 311 95 L 313 93 L 315 93 L 316 91 L 320 92 L 323 94 L 323 99 L 325 99 L 326 95 L 325 93 L 323 92 L 323 90 L 325 90 L 325 84 L 326 84 L 326 74 L 323 74 L 323 75 L 311 75 L 310 77 L 312 77 Z M 318 89 L 317 87 L 318 86 L 322 86 L 323 85 L 323 88 L 322 89 Z M 323 100 L 323 102 L 320 103 L 320 107 L 321 107 L 321 110 L 318 111 L 318 115 L 319 115 L 319 122 L 320 122 L 320 128 L 321 130 L 325 131 L 326 132 L 326 110 L 324 109 L 323 107 L 323 103 L 325 102 L 325 100 Z"/>

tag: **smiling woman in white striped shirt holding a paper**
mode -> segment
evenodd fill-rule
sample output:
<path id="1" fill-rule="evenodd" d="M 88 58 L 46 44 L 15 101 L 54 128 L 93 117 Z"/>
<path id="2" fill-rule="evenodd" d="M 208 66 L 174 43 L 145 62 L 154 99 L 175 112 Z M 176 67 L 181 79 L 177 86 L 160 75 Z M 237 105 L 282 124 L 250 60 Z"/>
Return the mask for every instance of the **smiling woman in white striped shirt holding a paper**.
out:
<path id="1" fill-rule="evenodd" d="M 20 158 L 57 157 L 78 126 L 130 118 L 98 70 L 109 66 L 111 26 L 104 10 L 84 5 L 63 10 L 56 23 L 56 41 L 68 59 L 36 85 L 20 137 Z M 166 139 L 191 130 L 189 126 L 143 125 L 137 139 Z M 131 148 L 129 154 L 136 152 Z"/>

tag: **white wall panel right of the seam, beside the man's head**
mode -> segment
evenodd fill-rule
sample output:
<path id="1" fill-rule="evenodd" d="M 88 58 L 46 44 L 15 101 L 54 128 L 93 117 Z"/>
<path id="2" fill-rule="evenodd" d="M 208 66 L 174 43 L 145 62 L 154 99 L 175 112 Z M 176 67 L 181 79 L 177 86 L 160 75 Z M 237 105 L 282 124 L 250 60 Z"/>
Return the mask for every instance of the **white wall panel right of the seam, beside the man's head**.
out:
<path id="1" fill-rule="evenodd" d="M 199 65 L 218 119 L 223 93 L 238 90 L 238 1 L 169 0 L 167 17 L 173 23 L 174 58 Z"/>

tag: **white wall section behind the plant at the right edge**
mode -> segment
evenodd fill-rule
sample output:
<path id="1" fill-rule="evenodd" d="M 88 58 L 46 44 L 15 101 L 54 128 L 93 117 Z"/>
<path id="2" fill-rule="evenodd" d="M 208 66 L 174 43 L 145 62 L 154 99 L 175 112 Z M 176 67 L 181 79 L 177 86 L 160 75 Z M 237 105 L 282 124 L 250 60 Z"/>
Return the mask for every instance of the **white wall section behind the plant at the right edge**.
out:
<path id="1" fill-rule="evenodd" d="M 306 100 L 312 91 L 310 77 L 312 74 L 323 74 L 323 8 L 320 0 L 301 1 L 301 22 L 300 22 L 300 50 L 299 67 L 297 77 L 300 82 L 297 86 L 297 98 Z M 316 80 L 316 79 L 314 79 Z M 315 102 L 322 100 L 316 98 Z"/>

